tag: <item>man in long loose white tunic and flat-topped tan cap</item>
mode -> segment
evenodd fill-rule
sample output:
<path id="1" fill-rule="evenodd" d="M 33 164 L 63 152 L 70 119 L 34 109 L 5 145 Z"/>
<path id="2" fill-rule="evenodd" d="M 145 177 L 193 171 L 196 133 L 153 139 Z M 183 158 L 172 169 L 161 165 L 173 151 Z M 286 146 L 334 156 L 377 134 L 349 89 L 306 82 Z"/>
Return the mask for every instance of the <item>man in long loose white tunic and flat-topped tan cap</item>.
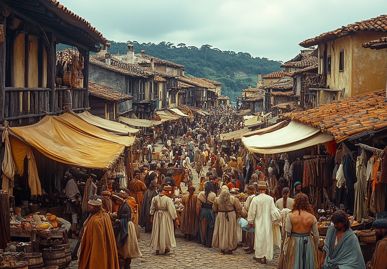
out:
<path id="1" fill-rule="evenodd" d="M 252 199 L 248 209 L 247 230 L 255 222 L 255 259 L 262 264 L 266 264 L 266 260 L 273 259 L 272 218 L 281 219 L 281 214 L 278 213 L 273 197 L 265 194 L 266 182 L 258 182 L 257 187 L 258 196 Z M 257 227 L 259 228 L 257 229 Z"/>

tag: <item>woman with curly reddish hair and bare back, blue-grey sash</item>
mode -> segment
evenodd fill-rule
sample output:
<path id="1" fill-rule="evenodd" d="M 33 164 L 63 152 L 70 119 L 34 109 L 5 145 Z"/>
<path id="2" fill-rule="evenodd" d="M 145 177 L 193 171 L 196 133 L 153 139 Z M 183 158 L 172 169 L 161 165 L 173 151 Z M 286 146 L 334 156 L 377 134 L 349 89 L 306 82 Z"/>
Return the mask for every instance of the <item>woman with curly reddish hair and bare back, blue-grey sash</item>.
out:
<path id="1" fill-rule="evenodd" d="M 317 219 L 310 207 L 308 196 L 297 194 L 293 208 L 286 216 L 284 242 L 284 260 L 288 269 L 319 268 L 317 249 L 319 246 L 319 230 Z"/>

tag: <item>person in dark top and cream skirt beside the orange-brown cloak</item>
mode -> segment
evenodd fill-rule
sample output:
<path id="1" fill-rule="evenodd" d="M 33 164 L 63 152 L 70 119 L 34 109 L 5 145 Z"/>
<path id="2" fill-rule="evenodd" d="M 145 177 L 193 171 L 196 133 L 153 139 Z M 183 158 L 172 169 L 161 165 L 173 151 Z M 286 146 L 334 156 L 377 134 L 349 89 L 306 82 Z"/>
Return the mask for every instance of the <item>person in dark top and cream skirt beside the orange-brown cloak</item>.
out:
<path id="1" fill-rule="evenodd" d="M 132 258 L 142 257 L 132 222 L 132 209 L 124 199 L 116 194 L 111 195 L 111 200 L 119 206 L 116 218 L 118 225 L 114 229 L 117 252 L 125 259 L 124 268 L 130 269 Z"/>

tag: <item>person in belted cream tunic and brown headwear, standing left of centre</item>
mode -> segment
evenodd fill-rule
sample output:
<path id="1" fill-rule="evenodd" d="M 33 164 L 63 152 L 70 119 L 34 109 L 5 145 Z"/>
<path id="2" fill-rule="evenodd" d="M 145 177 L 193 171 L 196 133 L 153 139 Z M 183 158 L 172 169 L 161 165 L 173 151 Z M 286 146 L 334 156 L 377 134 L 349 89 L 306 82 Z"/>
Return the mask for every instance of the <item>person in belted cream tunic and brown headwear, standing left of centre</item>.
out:
<path id="1" fill-rule="evenodd" d="M 173 202 L 167 195 L 172 190 L 170 185 L 163 187 L 161 194 L 153 197 L 151 209 L 151 223 L 153 223 L 151 243 L 149 244 L 156 255 L 160 250 L 170 252 L 171 247 L 176 247 L 175 233 L 173 226 L 178 226 L 176 209 Z"/>

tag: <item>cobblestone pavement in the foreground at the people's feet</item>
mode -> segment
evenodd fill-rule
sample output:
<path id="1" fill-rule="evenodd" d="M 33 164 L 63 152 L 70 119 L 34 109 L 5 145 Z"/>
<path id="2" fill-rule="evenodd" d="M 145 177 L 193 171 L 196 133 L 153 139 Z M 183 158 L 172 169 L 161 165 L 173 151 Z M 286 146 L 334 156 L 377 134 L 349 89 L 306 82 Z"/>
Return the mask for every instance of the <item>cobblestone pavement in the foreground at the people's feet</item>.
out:
<path id="1" fill-rule="evenodd" d="M 144 233 L 140 227 L 139 247 L 142 253 L 141 258 L 132 259 L 132 269 L 148 268 L 229 268 L 229 269 L 261 269 L 276 268 L 279 255 L 279 248 L 274 247 L 274 259 L 268 260 L 267 264 L 260 264 L 254 260 L 254 254 L 246 254 L 241 247 L 233 251 L 233 254 L 221 254 L 218 248 L 206 248 L 197 243 L 195 237 L 190 242 L 186 242 L 179 228 L 175 231 L 176 247 L 171 248 L 171 252 L 156 255 L 155 251 L 149 247 L 151 233 Z M 78 262 L 71 262 L 68 269 L 77 269 Z"/>

